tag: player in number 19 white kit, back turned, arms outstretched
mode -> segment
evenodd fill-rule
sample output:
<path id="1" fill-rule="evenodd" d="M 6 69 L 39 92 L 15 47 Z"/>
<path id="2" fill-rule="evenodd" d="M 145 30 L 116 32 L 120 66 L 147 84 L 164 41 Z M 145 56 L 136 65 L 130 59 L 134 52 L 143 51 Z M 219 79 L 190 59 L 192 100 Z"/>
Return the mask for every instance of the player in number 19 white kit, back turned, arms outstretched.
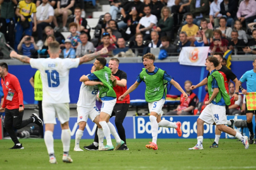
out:
<path id="1" fill-rule="evenodd" d="M 18 55 L 15 51 L 10 54 L 11 58 L 20 60 L 31 65 L 32 68 L 39 69 L 42 78 L 43 100 L 42 111 L 44 123 L 46 125 L 44 141 L 50 157 L 49 162 L 56 164 L 53 147 L 53 130 L 56 124 L 56 116 L 61 122 L 61 141 L 63 142 L 63 162 L 73 162 L 69 156 L 70 150 L 70 128 L 68 121 L 70 118 L 70 94 L 68 90 L 69 72 L 71 68 L 78 67 L 83 62 L 95 59 L 98 55 L 107 54 L 107 48 L 102 48 L 94 54 L 84 55 L 79 59 L 59 59 L 61 49 L 58 42 L 49 43 L 48 59 L 30 59 L 24 55 Z"/>

